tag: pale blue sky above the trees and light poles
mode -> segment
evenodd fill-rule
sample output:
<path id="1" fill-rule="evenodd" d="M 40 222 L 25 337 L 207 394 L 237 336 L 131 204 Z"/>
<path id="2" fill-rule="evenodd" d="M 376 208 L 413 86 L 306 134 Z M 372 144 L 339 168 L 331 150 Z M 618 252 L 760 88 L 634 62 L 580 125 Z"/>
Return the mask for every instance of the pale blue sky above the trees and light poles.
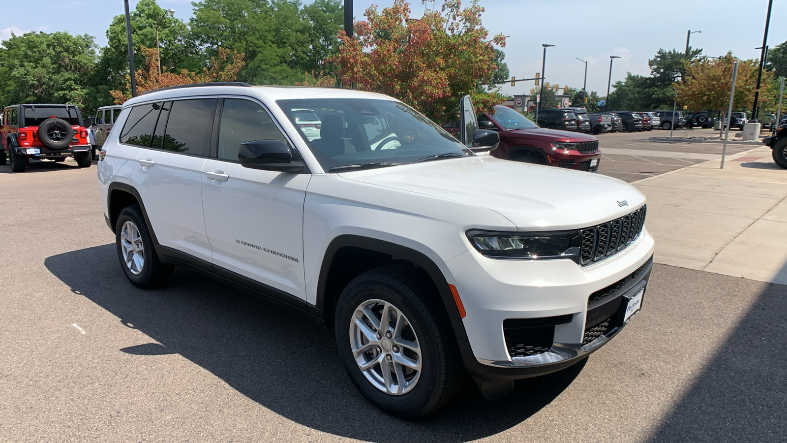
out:
<path id="1" fill-rule="evenodd" d="M 176 9 L 175 16 L 188 20 L 190 0 L 158 0 L 164 8 Z M 308 0 L 307 0 L 308 2 Z M 381 8 L 391 0 L 375 0 Z M 122 0 L 39 0 L 31 13 L 24 2 L 7 2 L 0 14 L 0 39 L 11 32 L 68 31 L 90 34 L 105 45 L 105 30 L 112 17 L 123 13 Z M 135 1 L 131 0 L 131 9 Z M 467 3 L 467 2 L 466 2 Z M 490 34 L 508 35 L 503 48 L 512 76 L 527 78 L 541 71 L 541 43 L 556 45 L 547 50 L 546 74 L 551 84 L 582 87 L 588 61 L 588 89 L 604 95 L 607 90 L 609 56 L 617 55 L 612 82 L 626 72 L 648 75 L 648 59 L 659 48 L 683 50 L 686 31 L 691 46 L 703 54 L 719 56 L 732 50 L 741 58 L 759 58 L 763 42 L 767 0 L 481 0 L 482 15 Z M 413 16 L 423 13 L 419 0 L 412 3 Z M 362 20 L 371 2 L 354 0 L 356 20 Z M 54 12 L 54 13 L 53 13 Z M 787 40 L 787 2 L 775 0 L 771 12 L 768 45 Z M 533 84 L 506 85 L 506 94 L 527 93 Z"/>

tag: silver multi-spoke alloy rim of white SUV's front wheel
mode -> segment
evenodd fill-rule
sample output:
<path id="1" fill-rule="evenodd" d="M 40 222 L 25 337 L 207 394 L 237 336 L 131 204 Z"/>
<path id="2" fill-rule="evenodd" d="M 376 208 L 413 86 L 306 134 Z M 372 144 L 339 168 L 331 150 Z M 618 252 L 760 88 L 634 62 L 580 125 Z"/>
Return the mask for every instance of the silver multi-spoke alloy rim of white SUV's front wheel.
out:
<path id="1" fill-rule="evenodd" d="M 353 357 L 364 377 L 383 393 L 411 391 L 421 375 L 421 347 L 407 317 L 384 300 L 368 300 L 349 325 Z"/>

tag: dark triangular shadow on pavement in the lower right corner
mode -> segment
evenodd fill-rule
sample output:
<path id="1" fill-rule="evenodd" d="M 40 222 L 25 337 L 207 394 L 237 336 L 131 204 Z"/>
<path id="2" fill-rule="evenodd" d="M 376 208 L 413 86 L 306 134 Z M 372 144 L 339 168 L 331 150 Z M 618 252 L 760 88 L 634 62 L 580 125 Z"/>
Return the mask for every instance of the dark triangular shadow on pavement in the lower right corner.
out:
<path id="1" fill-rule="evenodd" d="M 763 285 L 651 441 L 785 441 L 787 286 Z"/>

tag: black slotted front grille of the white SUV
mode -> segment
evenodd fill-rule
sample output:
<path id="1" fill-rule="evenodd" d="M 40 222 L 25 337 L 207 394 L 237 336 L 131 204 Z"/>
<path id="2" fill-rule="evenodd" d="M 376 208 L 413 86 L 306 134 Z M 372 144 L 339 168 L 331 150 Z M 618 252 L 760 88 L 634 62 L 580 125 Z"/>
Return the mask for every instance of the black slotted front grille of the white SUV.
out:
<path id="1" fill-rule="evenodd" d="M 636 240 L 645 225 L 645 211 L 646 207 L 643 206 L 608 223 L 582 229 L 582 249 L 579 254 L 582 266 L 623 251 Z"/>

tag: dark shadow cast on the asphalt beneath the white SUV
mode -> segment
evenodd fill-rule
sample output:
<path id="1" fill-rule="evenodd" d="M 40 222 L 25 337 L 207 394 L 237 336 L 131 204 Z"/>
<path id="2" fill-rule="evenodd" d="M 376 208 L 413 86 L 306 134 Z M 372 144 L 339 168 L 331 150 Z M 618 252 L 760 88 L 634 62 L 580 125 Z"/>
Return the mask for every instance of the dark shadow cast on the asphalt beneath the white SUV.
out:
<path id="1" fill-rule="evenodd" d="M 513 393 L 495 401 L 484 400 L 468 382 L 436 415 L 406 421 L 357 392 L 338 359 L 333 330 L 305 316 L 179 269 L 164 288 L 138 289 L 120 270 L 114 244 L 53 255 L 44 265 L 72 292 L 158 342 L 119 352 L 139 359 L 180 354 L 264 408 L 359 440 L 468 441 L 498 434 L 552 402 L 585 366 L 583 360 L 519 381 Z"/>

